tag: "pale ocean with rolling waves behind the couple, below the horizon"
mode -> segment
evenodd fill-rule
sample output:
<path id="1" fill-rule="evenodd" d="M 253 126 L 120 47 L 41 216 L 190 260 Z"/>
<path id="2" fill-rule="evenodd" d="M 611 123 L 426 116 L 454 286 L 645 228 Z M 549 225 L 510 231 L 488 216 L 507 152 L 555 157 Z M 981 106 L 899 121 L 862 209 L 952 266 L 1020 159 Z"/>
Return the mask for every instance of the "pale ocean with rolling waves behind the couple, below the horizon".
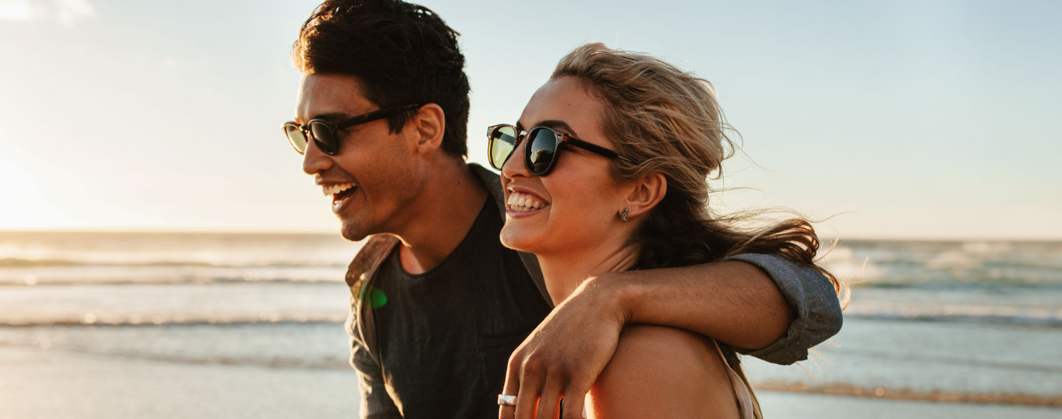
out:
<path id="1" fill-rule="evenodd" d="M 0 418 L 352 417 L 338 234 L 0 232 Z M 768 418 L 1062 417 L 1062 242 L 841 241 Z"/>

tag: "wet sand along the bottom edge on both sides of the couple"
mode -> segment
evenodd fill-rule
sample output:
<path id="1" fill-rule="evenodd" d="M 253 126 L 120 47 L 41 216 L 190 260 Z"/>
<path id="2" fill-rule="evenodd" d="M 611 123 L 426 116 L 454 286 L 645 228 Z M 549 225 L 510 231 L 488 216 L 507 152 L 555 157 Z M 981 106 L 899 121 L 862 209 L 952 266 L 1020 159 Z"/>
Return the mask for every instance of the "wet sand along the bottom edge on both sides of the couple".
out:
<path id="1" fill-rule="evenodd" d="M 768 418 L 1058 418 L 1062 409 L 759 391 Z M 355 372 L 0 347 L 0 418 L 350 418 Z"/>

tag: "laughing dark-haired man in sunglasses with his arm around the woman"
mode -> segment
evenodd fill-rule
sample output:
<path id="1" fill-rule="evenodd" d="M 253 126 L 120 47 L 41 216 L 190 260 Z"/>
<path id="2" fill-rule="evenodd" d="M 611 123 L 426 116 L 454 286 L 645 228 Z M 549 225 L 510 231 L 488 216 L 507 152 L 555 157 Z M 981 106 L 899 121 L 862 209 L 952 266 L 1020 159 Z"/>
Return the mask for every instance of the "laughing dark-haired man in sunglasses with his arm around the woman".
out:
<path id="1" fill-rule="evenodd" d="M 766 255 L 590 278 L 551 311 L 534 256 L 498 242 L 498 175 L 464 161 L 457 35 L 423 6 L 328 1 L 293 47 L 305 75 L 285 130 L 343 237 L 370 238 L 346 277 L 362 417 L 495 417 L 507 364 L 530 401 L 517 416 L 551 417 L 558 400 L 539 396 L 585 394 L 626 324 L 697 331 L 784 364 L 839 330 L 833 283 Z"/>

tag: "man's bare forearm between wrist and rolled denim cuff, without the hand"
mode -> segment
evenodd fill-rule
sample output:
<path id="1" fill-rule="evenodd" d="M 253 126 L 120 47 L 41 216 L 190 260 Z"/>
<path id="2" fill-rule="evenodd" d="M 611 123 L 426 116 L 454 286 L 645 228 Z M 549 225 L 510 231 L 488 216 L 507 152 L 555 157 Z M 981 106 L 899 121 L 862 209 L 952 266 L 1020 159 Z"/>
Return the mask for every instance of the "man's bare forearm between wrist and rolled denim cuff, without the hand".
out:
<path id="1" fill-rule="evenodd" d="M 669 326 L 737 348 L 783 337 L 795 317 L 771 278 L 739 261 L 607 274 L 595 279 L 628 324 Z"/>

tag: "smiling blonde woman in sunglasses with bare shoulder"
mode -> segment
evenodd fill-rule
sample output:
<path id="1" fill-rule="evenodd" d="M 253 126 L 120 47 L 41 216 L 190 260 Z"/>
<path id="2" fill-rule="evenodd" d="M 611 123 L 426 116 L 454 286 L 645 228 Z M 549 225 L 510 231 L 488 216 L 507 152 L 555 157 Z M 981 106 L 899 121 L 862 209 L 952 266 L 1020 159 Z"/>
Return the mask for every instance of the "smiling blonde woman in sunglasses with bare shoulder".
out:
<path id="1" fill-rule="evenodd" d="M 706 179 L 727 155 L 725 127 L 693 74 L 600 43 L 576 49 L 517 125 L 489 133 L 508 198 L 502 244 L 538 257 L 554 302 L 605 272 L 737 252 L 811 264 L 818 239 L 804 220 L 749 231 L 731 224 L 740 216 L 709 215 Z M 758 416 L 714 341 L 658 326 L 623 330 L 586 402 L 592 418 Z"/>

